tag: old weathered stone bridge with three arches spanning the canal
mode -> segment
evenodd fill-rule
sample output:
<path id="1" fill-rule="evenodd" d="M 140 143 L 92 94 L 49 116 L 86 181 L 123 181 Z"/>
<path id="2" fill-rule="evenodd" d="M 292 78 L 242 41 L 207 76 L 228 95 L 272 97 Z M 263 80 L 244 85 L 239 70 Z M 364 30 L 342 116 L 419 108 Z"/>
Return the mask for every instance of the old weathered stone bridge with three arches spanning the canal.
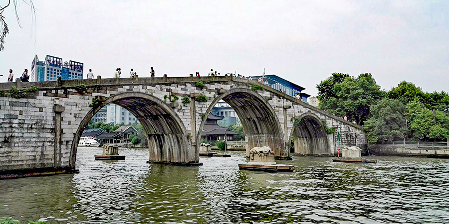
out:
<path id="1" fill-rule="evenodd" d="M 203 82 L 204 88 L 196 87 Z M 76 86 L 84 84 L 85 92 Z M 270 146 L 276 158 L 290 153 L 335 154 L 335 127 L 341 147 L 366 144 L 361 127 L 324 112 L 271 87 L 236 77 L 173 77 L 0 83 L 37 87 L 24 98 L 0 93 L 0 174 L 70 172 L 75 170 L 80 135 L 92 116 L 108 103 L 122 106 L 141 122 L 152 162 L 198 165 L 205 119 L 224 100 L 240 117 L 247 150 Z M 256 87 L 258 86 L 258 88 Z M 206 96 L 207 102 L 198 101 Z M 177 96 L 171 102 L 169 96 Z M 187 97 L 190 102 L 183 104 Z M 93 101 L 97 107 L 89 107 Z M 295 149 L 290 151 L 290 139 Z"/>

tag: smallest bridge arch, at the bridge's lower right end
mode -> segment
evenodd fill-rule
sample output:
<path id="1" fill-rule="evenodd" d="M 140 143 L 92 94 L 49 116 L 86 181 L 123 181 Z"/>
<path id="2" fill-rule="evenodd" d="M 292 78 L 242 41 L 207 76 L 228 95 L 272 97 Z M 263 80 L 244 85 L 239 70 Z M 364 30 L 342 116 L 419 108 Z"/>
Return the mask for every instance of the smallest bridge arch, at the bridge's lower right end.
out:
<path id="1" fill-rule="evenodd" d="M 331 154 L 329 140 L 323 122 L 314 113 L 306 112 L 296 118 L 290 133 L 294 152 L 305 155 Z M 291 144 L 291 143 L 290 143 Z"/>

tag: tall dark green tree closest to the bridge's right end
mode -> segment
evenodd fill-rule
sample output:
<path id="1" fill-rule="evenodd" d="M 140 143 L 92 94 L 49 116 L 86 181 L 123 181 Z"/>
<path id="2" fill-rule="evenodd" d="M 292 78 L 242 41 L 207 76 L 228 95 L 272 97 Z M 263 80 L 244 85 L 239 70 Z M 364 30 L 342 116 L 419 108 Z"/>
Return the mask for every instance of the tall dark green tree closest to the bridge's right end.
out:
<path id="1" fill-rule="evenodd" d="M 320 109 L 347 116 L 348 120 L 359 125 L 368 119 L 371 105 L 385 95 L 370 73 L 362 73 L 358 77 L 334 73 L 318 84 L 317 89 Z"/>

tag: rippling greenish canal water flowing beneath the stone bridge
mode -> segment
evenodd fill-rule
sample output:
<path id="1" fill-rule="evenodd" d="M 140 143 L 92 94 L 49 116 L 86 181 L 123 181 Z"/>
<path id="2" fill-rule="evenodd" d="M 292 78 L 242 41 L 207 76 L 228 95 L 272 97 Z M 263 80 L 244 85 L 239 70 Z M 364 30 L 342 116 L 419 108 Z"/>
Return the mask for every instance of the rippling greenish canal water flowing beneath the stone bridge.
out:
<path id="1" fill-rule="evenodd" d="M 79 174 L 0 180 L 0 217 L 47 224 L 449 223 L 449 160 L 371 157 L 377 164 L 295 157 L 293 173 L 239 171 L 244 152 L 200 167 L 146 164 L 148 151 L 95 161 Z"/>

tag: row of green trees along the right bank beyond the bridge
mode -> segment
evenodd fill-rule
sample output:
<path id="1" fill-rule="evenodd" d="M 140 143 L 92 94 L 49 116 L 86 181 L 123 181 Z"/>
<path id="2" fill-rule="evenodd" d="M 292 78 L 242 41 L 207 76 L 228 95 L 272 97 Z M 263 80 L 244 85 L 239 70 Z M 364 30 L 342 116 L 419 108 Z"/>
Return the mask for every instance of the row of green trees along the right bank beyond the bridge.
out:
<path id="1" fill-rule="evenodd" d="M 423 92 L 406 81 L 385 91 L 370 73 L 333 73 L 317 89 L 319 108 L 363 125 L 369 143 L 449 137 L 449 95 L 444 91 Z"/>

